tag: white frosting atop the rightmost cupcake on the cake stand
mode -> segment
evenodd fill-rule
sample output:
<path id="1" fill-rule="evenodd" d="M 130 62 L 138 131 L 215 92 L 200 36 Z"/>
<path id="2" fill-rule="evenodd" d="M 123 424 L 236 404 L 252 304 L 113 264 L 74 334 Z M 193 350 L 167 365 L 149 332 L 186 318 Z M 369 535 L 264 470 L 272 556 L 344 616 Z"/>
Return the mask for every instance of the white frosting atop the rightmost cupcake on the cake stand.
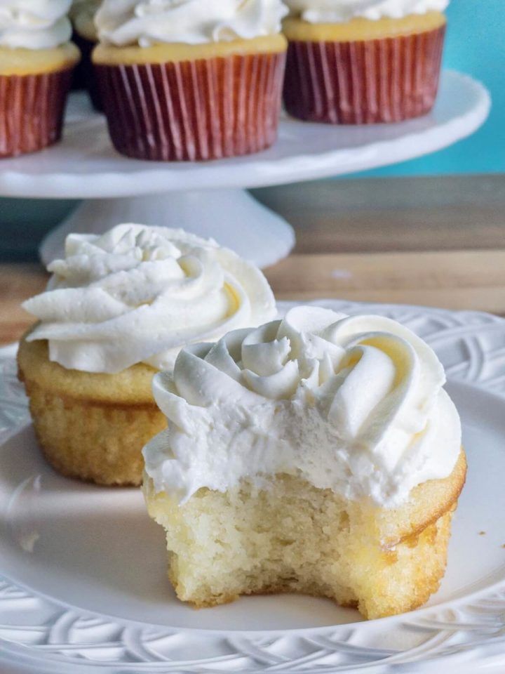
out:
<path id="1" fill-rule="evenodd" d="M 443 12 L 449 0 L 284 0 L 295 16 L 310 23 L 347 22 L 361 17 L 400 19 L 409 14 Z"/>

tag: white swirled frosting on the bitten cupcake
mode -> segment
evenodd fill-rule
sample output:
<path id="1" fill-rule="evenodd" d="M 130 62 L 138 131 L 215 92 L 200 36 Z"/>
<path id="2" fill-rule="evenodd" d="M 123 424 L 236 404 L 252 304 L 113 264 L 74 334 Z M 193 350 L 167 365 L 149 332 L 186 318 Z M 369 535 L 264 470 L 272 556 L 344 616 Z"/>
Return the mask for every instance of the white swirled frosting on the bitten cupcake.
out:
<path id="1" fill-rule="evenodd" d="M 419 337 L 379 316 L 299 307 L 283 321 L 182 350 L 154 377 L 168 429 L 144 447 L 156 491 L 181 503 L 301 475 L 391 507 L 447 477 L 461 447 L 443 367 Z"/>

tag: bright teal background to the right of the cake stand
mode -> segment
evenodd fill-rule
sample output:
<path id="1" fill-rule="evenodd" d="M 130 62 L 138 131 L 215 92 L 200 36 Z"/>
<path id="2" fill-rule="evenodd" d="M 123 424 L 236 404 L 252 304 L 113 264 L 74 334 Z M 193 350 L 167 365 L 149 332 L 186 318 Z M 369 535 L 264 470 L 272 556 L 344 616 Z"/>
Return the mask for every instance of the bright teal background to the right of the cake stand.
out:
<path id="1" fill-rule="evenodd" d="M 446 13 L 443 67 L 473 75 L 489 88 L 493 101 L 489 119 L 473 136 L 447 150 L 357 175 L 505 171 L 505 0 L 452 0 Z"/>

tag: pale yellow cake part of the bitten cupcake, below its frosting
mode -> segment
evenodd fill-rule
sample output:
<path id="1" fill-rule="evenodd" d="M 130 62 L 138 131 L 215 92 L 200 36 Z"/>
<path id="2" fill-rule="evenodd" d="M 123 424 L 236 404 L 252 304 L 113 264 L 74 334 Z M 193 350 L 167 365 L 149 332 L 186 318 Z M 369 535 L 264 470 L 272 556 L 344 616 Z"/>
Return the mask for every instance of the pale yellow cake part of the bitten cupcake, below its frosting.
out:
<path id="1" fill-rule="evenodd" d="M 247 481 L 225 493 L 200 489 L 183 505 L 144 476 L 144 496 L 166 530 L 168 575 L 181 600 L 207 607 L 303 593 L 373 619 L 414 609 L 438 589 L 465 475 L 462 451 L 450 477 L 419 485 L 393 510 L 289 475 L 260 490 Z"/>

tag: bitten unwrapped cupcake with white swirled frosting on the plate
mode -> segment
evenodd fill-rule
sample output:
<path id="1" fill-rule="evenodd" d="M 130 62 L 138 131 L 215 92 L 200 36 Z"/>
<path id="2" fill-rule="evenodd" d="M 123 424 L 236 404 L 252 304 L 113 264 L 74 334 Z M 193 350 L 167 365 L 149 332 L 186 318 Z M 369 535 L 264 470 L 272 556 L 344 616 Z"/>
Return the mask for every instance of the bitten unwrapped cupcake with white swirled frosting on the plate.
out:
<path id="1" fill-rule="evenodd" d="M 182 350 L 144 448 L 180 600 L 304 593 L 368 619 L 425 602 L 466 475 L 444 381 L 400 324 L 314 307 Z"/>

